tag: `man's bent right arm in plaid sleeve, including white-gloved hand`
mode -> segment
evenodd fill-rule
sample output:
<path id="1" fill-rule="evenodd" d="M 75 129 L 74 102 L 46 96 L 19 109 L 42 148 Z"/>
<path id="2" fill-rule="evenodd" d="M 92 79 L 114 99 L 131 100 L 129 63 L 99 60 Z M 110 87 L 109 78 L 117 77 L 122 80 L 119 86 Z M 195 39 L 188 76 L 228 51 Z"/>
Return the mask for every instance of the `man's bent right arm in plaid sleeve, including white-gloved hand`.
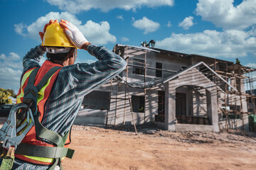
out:
<path id="1" fill-rule="evenodd" d="M 64 91 L 74 91 L 78 98 L 82 98 L 117 76 L 126 67 L 127 63 L 122 57 L 105 47 L 91 45 L 72 23 L 61 20 L 60 26 L 64 28 L 65 34 L 75 47 L 87 50 L 98 60 L 92 64 L 80 63 L 61 69 L 61 75 L 65 75 L 62 81 L 65 82 L 68 78 L 68 88 L 70 88 Z"/>

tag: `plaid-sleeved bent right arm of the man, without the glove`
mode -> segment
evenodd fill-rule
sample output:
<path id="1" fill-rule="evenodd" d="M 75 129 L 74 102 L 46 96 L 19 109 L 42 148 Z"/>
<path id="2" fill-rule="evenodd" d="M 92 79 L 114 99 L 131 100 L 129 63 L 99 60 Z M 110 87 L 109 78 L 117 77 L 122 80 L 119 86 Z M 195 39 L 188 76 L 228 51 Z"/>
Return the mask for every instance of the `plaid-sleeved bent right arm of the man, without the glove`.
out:
<path id="1" fill-rule="evenodd" d="M 90 91 L 97 89 L 110 79 L 114 78 L 124 70 L 127 62 L 105 47 L 88 45 L 87 51 L 97 58 L 97 62 L 92 64 L 78 63 L 60 70 L 61 81 L 69 81 L 63 91 L 74 91 L 78 98 L 82 98 Z M 61 76 L 60 76 L 61 75 Z"/>

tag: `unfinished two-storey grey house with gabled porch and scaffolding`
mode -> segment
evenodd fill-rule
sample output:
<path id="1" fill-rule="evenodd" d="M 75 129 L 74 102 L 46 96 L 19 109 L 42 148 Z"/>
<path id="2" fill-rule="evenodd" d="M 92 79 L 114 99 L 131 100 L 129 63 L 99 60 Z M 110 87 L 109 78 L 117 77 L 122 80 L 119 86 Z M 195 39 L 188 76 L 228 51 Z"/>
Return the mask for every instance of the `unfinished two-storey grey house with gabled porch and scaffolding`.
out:
<path id="1" fill-rule="evenodd" d="M 233 62 L 149 47 L 115 45 L 127 68 L 85 96 L 75 123 L 139 125 L 218 132 L 248 129 L 254 94 L 245 86 L 255 69 Z M 251 86 L 251 85 L 250 85 Z"/>

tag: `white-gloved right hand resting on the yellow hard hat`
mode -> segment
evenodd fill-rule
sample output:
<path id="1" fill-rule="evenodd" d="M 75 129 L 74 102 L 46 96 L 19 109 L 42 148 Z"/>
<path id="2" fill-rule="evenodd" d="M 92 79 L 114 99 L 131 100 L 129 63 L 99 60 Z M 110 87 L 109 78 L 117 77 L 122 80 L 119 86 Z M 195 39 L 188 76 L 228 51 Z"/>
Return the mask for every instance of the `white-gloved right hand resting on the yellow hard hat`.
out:
<path id="1" fill-rule="evenodd" d="M 78 28 L 72 23 L 61 20 L 60 26 L 64 29 L 65 34 L 68 36 L 73 45 L 75 45 L 75 47 L 81 48 L 82 45 L 88 42 L 80 30 L 78 30 Z"/>

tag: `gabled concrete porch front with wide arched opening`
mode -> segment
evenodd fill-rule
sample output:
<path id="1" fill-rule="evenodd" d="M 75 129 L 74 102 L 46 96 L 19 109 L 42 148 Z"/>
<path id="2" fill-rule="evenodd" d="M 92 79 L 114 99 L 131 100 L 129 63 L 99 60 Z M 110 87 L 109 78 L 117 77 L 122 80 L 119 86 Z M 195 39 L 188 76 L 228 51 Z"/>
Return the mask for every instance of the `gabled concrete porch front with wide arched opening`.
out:
<path id="1" fill-rule="evenodd" d="M 204 89 L 209 91 L 208 97 L 210 102 L 208 102 L 208 116 L 212 125 L 186 125 L 186 124 L 174 124 L 176 117 L 176 88 L 179 86 L 200 85 Z M 217 91 L 215 84 L 207 79 L 201 72 L 197 69 L 191 69 L 188 72 L 184 72 L 179 75 L 177 79 L 171 80 L 165 84 L 166 86 L 166 129 L 168 130 L 182 130 L 184 127 L 190 128 L 190 130 L 209 130 L 218 132 L 218 110 L 217 110 Z"/>

